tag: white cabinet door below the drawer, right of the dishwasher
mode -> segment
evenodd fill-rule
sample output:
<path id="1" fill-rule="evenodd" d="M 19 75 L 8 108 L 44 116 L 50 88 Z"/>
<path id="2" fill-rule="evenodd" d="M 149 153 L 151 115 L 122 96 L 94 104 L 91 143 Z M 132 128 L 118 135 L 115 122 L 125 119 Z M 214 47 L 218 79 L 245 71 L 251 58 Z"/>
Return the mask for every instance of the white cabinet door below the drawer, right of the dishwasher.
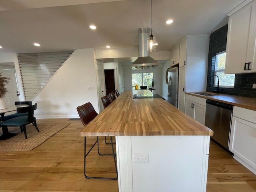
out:
<path id="1" fill-rule="evenodd" d="M 233 116 L 229 150 L 256 172 L 256 124 Z M 251 170 L 251 169 L 250 169 Z M 253 170 L 252 170 L 253 171 Z"/>

